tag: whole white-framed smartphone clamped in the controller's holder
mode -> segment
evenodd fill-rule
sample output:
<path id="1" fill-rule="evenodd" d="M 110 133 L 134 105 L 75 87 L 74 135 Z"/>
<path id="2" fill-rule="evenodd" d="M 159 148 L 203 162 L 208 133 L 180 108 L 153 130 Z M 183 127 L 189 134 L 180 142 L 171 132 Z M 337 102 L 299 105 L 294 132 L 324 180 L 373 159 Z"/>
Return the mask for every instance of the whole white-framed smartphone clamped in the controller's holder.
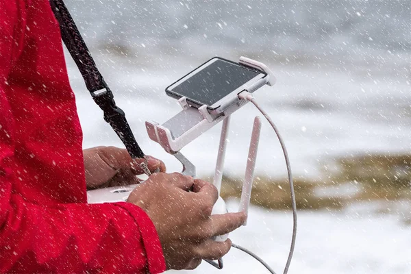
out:
<path id="1" fill-rule="evenodd" d="M 237 95 L 242 90 L 258 84 L 249 90 L 253 92 L 263 86 L 264 77 L 264 71 L 215 57 L 168 86 L 166 94 L 175 99 L 186 97 L 195 108 L 207 105 L 209 110 L 216 110 L 239 101 Z"/>

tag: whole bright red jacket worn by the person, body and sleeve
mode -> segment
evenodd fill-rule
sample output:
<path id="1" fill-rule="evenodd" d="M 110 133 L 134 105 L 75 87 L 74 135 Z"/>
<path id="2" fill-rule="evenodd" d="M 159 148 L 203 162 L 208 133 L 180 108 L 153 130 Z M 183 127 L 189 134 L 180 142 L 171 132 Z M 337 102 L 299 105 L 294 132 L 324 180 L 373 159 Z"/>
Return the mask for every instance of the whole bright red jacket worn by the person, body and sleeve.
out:
<path id="1" fill-rule="evenodd" d="M 142 209 L 87 204 L 82 130 L 49 1 L 0 0 L 0 273 L 164 270 Z"/>

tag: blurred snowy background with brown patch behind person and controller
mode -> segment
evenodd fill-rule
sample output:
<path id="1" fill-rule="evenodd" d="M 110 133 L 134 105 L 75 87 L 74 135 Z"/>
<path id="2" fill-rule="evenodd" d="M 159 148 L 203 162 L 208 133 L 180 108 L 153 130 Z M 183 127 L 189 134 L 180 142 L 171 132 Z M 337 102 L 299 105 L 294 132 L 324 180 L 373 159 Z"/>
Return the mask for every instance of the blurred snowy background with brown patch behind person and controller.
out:
<path id="1" fill-rule="evenodd" d="M 138 142 L 169 171 L 181 166 L 144 125 L 179 112 L 164 88 L 216 55 L 269 65 L 277 84 L 254 95 L 279 127 L 295 175 L 299 232 L 289 273 L 411 273 L 411 1 L 65 2 Z M 66 59 L 84 147 L 121 147 Z M 233 211 L 258 114 L 246 105 L 232 119 L 223 197 Z M 220 128 L 182 150 L 199 177 L 212 177 Z M 249 224 L 231 238 L 282 273 L 290 197 L 284 156 L 264 122 L 253 204 Z M 186 272 L 266 273 L 236 250 L 222 271 L 203 263 Z"/>

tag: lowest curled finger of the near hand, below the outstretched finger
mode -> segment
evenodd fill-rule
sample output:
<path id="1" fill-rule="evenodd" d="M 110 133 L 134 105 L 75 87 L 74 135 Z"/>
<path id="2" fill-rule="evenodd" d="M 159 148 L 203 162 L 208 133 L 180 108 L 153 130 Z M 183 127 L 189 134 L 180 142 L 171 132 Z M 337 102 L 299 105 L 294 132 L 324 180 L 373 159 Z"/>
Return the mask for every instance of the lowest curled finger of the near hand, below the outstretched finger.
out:
<path id="1" fill-rule="evenodd" d="M 225 242 L 216 242 L 215 240 L 206 240 L 195 247 L 195 256 L 201 259 L 217 260 L 227 254 L 231 248 L 231 240 L 227 239 Z"/>

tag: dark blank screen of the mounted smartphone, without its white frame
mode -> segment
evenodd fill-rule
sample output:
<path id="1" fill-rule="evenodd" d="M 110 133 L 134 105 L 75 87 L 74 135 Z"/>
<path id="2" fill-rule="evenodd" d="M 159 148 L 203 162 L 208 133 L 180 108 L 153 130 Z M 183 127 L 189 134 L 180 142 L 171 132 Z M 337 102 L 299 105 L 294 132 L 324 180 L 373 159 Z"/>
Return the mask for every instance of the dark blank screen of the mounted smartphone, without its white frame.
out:
<path id="1" fill-rule="evenodd" d="M 175 86 L 171 92 L 210 106 L 259 74 L 239 64 L 219 59 Z"/>

